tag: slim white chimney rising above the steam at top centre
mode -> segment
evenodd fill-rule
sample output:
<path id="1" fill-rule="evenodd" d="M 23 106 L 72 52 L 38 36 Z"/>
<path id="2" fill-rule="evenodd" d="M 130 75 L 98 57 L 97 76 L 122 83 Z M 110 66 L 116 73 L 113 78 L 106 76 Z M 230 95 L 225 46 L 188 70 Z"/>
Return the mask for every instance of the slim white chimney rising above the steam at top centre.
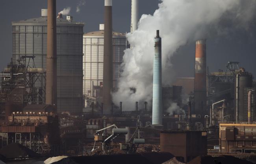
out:
<path id="1" fill-rule="evenodd" d="M 131 33 L 133 33 L 138 27 L 138 10 L 139 10 L 139 0 L 132 0 L 131 7 Z"/>

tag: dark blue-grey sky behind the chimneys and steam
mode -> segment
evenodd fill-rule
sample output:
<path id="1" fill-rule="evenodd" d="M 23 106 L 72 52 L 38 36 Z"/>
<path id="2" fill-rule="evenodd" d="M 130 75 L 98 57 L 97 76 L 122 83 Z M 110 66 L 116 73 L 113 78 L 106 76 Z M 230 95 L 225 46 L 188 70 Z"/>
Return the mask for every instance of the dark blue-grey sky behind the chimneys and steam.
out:
<path id="1" fill-rule="evenodd" d="M 130 1 L 113 0 L 113 29 L 115 31 L 130 31 Z M 80 0 L 57 0 L 57 12 L 64 7 L 71 7 L 73 20 L 85 22 L 84 32 L 97 31 L 99 24 L 103 23 L 104 0 L 85 0 L 85 5 L 81 6 L 80 13 L 76 13 L 76 6 L 79 2 Z M 139 15 L 153 14 L 158 9 L 159 2 L 159 0 L 139 0 Z M 1 0 L 1 70 L 6 67 L 12 55 L 11 21 L 39 17 L 43 8 L 47 8 L 47 0 Z M 255 24 L 256 21 L 252 21 L 249 31 L 246 32 L 237 30 L 226 36 L 212 36 L 207 39 L 207 65 L 210 71 L 225 69 L 228 61 L 238 61 L 241 67 L 245 67 L 247 71 L 256 75 Z M 193 77 L 194 61 L 195 44 L 180 47 L 172 58 L 176 75 L 178 77 Z"/>

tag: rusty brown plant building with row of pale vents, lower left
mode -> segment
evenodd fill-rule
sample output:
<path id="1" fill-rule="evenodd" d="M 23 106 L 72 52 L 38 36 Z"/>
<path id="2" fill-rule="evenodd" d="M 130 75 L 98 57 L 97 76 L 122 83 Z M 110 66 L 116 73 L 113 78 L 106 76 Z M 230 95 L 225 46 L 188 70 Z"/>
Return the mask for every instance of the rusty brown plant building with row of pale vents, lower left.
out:
<path id="1" fill-rule="evenodd" d="M 0 147 L 19 143 L 41 154 L 58 154 L 58 116 L 51 105 L 28 105 L 13 111 L 0 126 Z"/>

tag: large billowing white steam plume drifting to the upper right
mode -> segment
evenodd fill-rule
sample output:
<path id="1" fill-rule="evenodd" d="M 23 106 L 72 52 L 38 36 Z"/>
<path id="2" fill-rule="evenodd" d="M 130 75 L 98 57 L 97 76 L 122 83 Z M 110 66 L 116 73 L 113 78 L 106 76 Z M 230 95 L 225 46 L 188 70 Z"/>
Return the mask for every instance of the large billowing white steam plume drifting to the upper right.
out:
<path id="1" fill-rule="evenodd" d="M 171 85 L 174 77 L 171 56 L 180 46 L 210 37 L 213 33 L 222 35 L 222 31 L 232 28 L 246 29 L 255 15 L 255 8 L 254 0 L 161 0 L 154 15 L 142 15 L 138 29 L 127 35 L 133 48 L 125 50 L 123 72 L 118 91 L 112 95 L 113 102 L 118 105 L 122 101 L 124 110 L 133 110 L 136 101 L 141 106 L 144 101 L 148 101 L 149 106 L 152 104 L 157 29 L 162 37 L 163 85 Z"/>

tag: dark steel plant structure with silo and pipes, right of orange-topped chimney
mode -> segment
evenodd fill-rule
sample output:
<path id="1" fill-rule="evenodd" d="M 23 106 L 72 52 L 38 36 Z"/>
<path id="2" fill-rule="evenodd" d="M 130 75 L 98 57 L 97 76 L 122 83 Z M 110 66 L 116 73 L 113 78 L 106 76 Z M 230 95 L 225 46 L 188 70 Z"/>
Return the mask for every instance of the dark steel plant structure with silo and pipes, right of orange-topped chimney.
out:
<path id="1" fill-rule="evenodd" d="M 251 73 L 239 67 L 239 62 L 228 62 L 226 71 L 219 69 L 208 74 L 207 100 L 209 105 L 213 104 L 211 125 L 230 121 L 247 122 L 249 99 L 251 121 L 256 120 L 252 78 Z"/>

